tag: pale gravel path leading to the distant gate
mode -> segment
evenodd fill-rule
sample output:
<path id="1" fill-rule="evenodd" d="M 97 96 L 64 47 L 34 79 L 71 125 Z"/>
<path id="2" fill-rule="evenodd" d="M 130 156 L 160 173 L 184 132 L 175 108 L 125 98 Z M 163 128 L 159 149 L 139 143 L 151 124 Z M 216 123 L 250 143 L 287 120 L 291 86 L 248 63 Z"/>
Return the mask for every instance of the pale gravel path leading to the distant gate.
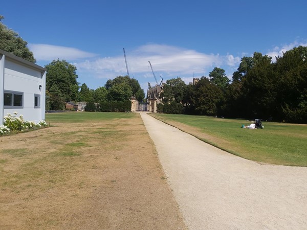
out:
<path id="1" fill-rule="evenodd" d="M 260 165 L 141 113 L 190 229 L 307 229 L 307 168 Z"/>

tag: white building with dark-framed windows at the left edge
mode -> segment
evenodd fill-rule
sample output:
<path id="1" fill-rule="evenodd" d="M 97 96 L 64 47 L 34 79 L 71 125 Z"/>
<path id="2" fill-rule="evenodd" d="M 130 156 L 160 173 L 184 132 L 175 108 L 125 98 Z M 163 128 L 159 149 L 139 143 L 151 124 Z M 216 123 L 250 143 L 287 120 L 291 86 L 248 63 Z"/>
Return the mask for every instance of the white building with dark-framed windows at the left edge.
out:
<path id="1" fill-rule="evenodd" d="M 7 113 L 45 120 L 46 68 L 0 50 L 0 125 Z"/>

